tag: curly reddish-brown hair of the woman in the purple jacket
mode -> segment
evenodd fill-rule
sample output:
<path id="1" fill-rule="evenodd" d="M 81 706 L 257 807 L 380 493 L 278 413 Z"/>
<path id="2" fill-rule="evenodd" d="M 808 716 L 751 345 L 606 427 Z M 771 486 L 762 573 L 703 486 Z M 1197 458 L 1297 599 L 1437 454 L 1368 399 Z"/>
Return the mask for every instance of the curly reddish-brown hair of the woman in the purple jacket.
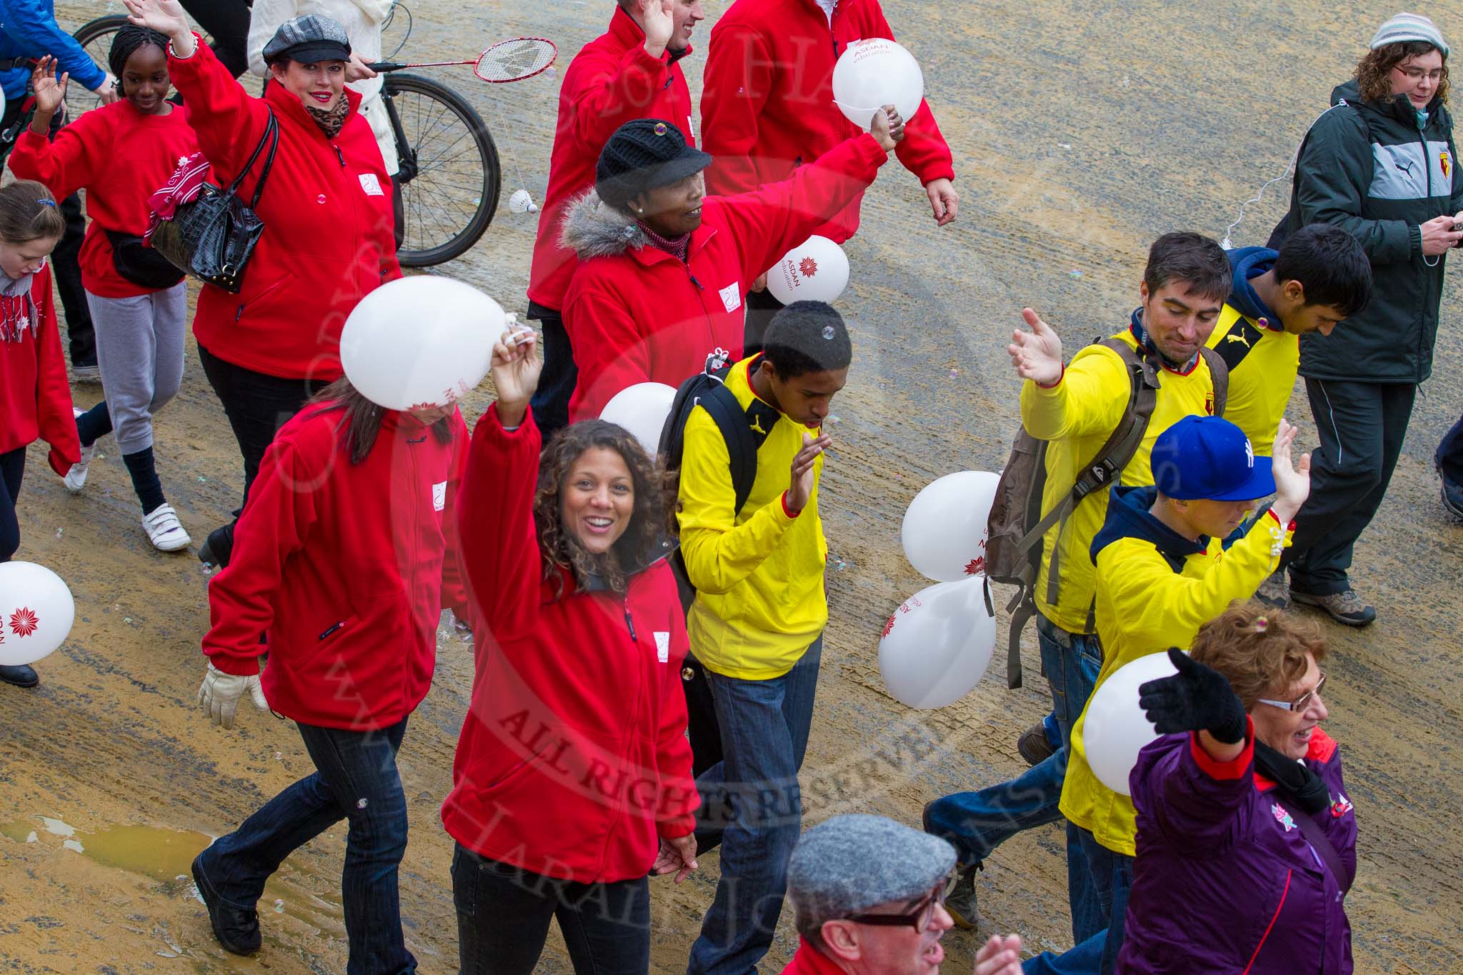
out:
<path id="1" fill-rule="evenodd" d="M 1325 637 L 1314 620 L 1236 602 L 1198 629 L 1189 650 L 1229 678 L 1245 710 L 1265 696 L 1285 694 L 1305 677 L 1306 656 L 1325 656 Z"/>

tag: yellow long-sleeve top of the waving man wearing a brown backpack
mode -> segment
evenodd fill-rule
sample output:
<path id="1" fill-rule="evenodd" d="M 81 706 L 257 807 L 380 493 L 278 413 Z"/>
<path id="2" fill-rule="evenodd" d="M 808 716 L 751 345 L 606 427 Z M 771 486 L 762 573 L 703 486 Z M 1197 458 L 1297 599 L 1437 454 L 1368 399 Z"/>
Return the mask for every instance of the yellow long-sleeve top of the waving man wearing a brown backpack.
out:
<path id="1" fill-rule="evenodd" d="M 1129 330 L 1119 332 L 1132 348 Z M 1214 380 L 1208 363 L 1197 357 L 1186 373 L 1165 368 L 1159 377 L 1157 402 L 1148 428 L 1132 459 L 1122 469 L 1119 484 L 1153 484 L 1148 466 L 1153 441 L 1189 414 L 1214 412 Z M 1050 512 L 1072 490 L 1077 472 L 1097 458 L 1128 408 L 1132 386 L 1122 358 L 1102 345 L 1088 345 L 1067 365 L 1061 382 L 1043 389 L 1027 380 L 1021 387 L 1021 422 L 1027 433 L 1046 440 L 1046 487 L 1042 512 Z M 1090 612 L 1094 593 L 1091 542 L 1107 516 L 1107 494 L 1093 493 L 1062 522 L 1048 529 L 1042 539 L 1042 569 L 1036 577 L 1036 608 L 1069 633 L 1091 633 Z M 1056 592 L 1052 592 L 1052 561 L 1058 563 Z"/>

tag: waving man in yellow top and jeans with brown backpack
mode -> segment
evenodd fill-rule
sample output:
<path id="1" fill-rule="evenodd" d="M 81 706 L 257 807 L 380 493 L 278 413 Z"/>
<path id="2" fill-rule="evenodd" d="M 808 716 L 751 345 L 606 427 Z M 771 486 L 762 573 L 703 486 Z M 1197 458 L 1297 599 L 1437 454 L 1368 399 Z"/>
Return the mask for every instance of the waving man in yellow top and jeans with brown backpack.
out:
<path id="1" fill-rule="evenodd" d="M 1165 234 L 1148 251 L 1138 295 L 1143 304 L 1115 339 L 1144 349 L 1157 383 L 1156 405 L 1132 459 L 1113 472 L 1125 485 L 1153 484 L 1148 455 L 1154 440 L 1182 417 L 1214 412 L 1208 360 L 1200 354 L 1229 294 L 1229 262 L 1220 246 L 1200 234 Z M 1008 346 L 1021 386 L 1021 422 L 1046 440 L 1042 510 L 1052 512 L 1071 493 L 1077 475 L 1102 453 L 1132 396 L 1132 377 L 1118 352 L 1088 345 L 1064 367 L 1062 342 L 1031 308 L 1030 332 L 1015 332 Z M 1216 357 L 1217 360 L 1217 357 Z M 1093 620 L 1096 572 L 1090 548 L 1107 510 L 1107 493 L 1084 497 L 1053 523 L 1042 548 L 1036 583 L 1036 634 L 1052 690 L 1062 741 L 1071 737 L 1102 667 Z M 955 792 L 925 807 L 925 829 L 960 852 L 961 873 L 947 898 L 957 924 L 976 922 L 974 871 L 996 845 L 1033 826 L 1062 819 L 1058 801 L 1067 750 L 1058 747 L 1020 778 L 979 792 Z M 1077 832 L 1068 826 L 1068 899 L 1077 944 L 1107 927 L 1083 862 Z"/>

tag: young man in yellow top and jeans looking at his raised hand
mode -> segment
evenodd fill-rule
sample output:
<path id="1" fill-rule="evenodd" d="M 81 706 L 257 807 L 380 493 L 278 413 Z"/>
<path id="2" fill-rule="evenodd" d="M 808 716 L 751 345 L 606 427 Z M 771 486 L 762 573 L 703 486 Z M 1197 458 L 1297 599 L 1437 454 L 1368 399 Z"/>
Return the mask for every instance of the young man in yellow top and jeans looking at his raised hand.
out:
<path id="1" fill-rule="evenodd" d="M 689 972 L 755 971 L 783 908 L 828 621 L 818 478 L 831 440 L 822 424 L 851 361 L 838 313 L 796 301 L 772 317 L 764 351 L 732 367 L 726 387 L 758 441 L 756 479 L 740 510 L 715 421 L 699 405 L 686 420 L 680 553 L 696 589 L 686 630 L 707 671 L 724 756 L 696 784 L 704 795 L 729 792 L 732 810 L 721 880 Z"/>

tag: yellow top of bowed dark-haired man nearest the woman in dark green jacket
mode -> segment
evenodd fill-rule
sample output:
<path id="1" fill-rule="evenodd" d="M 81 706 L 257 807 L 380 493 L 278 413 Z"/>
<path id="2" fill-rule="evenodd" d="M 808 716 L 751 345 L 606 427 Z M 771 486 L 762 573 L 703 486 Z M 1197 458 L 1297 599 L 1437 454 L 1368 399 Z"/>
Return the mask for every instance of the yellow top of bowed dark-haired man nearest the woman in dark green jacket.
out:
<path id="1" fill-rule="evenodd" d="M 1255 456 L 1268 458 L 1301 368 L 1301 336 L 1261 325 L 1226 304 L 1208 348 L 1229 365 L 1225 420 L 1245 431 Z"/>

